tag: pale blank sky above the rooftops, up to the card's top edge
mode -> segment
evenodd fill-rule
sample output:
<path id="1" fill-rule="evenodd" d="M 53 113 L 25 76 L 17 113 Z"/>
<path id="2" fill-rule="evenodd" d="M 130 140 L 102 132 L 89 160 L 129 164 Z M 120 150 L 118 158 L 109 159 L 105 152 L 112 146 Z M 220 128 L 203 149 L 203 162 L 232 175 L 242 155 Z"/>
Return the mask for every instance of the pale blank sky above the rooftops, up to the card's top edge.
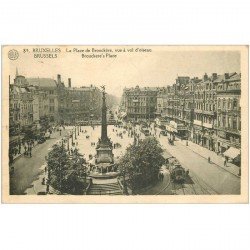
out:
<path id="1" fill-rule="evenodd" d="M 60 46 L 40 46 L 37 48 L 60 48 Z M 72 46 L 91 50 L 93 46 Z M 90 84 L 106 86 L 106 91 L 120 97 L 124 87 L 167 86 L 175 82 L 177 76 L 202 77 L 204 73 L 224 74 L 240 72 L 240 51 L 238 47 L 177 47 L 177 46 L 98 46 L 96 49 L 116 48 L 126 52 L 113 53 L 116 58 L 82 58 L 82 53 L 65 53 L 65 46 L 56 59 L 37 59 L 34 53 L 22 53 L 23 48 L 32 51 L 34 47 L 17 47 L 19 58 L 9 65 L 11 79 L 18 73 L 25 77 L 49 77 L 57 74 L 67 84 L 71 78 L 73 87 Z M 127 49 L 134 52 L 127 52 Z M 136 49 L 151 49 L 151 52 L 135 52 Z M 87 53 L 84 53 L 87 54 Z M 93 54 L 90 52 L 89 54 Z M 95 53 L 100 54 L 100 53 Z M 106 55 L 106 53 L 104 53 Z"/>

